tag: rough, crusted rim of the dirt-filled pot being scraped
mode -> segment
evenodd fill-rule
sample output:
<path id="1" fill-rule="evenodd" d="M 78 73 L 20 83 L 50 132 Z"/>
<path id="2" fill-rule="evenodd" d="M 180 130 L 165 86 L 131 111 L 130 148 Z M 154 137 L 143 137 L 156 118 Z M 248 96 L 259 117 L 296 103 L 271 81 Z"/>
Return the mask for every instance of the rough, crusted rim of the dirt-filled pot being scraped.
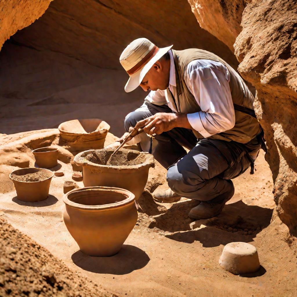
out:
<path id="1" fill-rule="evenodd" d="M 103 148 L 104 149 L 104 148 Z M 124 150 L 128 150 L 128 149 L 125 149 L 125 148 L 122 148 Z M 77 154 L 73 161 L 77 164 L 77 165 L 81 165 L 81 166 L 91 166 L 91 167 L 95 167 L 95 168 L 108 168 L 109 170 L 131 170 L 131 169 L 138 169 L 138 168 L 141 168 L 141 167 L 146 167 L 146 166 L 149 166 L 149 167 L 154 167 L 154 157 L 152 154 L 149 154 L 149 153 L 146 153 L 146 152 L 139 152 L 140 154 L 147 154 L 149 157 L 141 164 L 138 164 L 138 165 L 131 165 L 131 166 L 125 166 L 125 165 L 102 165 L 102 164 L 96 164 L 96 163 L 93 163 L 91 161 L 78 161 L 78 159 L 81 157 L 82 154 L 86 153 L 86 152 L 89 152 L 89 151 L 100 151 L 102 149 L 90 149 L 90 150 L 87 150 L 87 151 L 82 151 L 81 153 Z M 132 150 L 130 150 L 132 151 Z"/>

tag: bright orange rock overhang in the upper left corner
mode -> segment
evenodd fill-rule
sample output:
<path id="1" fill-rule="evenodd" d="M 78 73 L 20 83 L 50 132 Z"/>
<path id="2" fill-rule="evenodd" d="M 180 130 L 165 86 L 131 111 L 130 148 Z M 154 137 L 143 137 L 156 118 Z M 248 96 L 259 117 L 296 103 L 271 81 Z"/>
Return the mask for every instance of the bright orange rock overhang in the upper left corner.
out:
<path id="1" fill-rule="evenodd" d="M 16 31 L 29 26 L 48 8 L 52 0 L 5 0 L 0 2 L 0 49 Z"/>

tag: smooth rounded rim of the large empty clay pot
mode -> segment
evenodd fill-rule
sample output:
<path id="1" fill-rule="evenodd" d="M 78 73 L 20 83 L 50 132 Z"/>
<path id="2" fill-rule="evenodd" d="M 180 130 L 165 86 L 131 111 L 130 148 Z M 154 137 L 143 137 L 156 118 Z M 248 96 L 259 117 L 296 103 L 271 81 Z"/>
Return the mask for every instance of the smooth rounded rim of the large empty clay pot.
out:
<path id="1" fill-rule="evenodd" d="M 85 205 L 85 204 L 73 202 L 68 199 L 68 195 L 71 193 L 80 192 L 80 191 L 91 191 L 91 190 L 93 190 L 93 191 L 94 190 L 99 190 L 99 191 L 117 190 L 117 192 L 120 192 L 121 194 L 124 194 L 124 193 L 128 194 L 128 197 L 124 200 L 119 201 L 119 202 L 101 204 L 101 205 Z M 63 202 L 66 205 L 72 206 L 72 207 L 78 208 L 78 209 L 85 209 L 85 210 L 108 210 L 110 208 L 121 208 L 121 207 L 128 206 L 132 203 L 134 204 L 134 200 L 135 200 L 135 195 L 126 189 L 121 189 L 121 188 L 117 188 L 117 187 L 103 187 L 103 186 L 84 187 L 84 188 L 80 188 L 80 189 L 73 189 L 73 190 L 67 192 L 66 194 L 64 194 L 64 196 L 63 196 Z"/>

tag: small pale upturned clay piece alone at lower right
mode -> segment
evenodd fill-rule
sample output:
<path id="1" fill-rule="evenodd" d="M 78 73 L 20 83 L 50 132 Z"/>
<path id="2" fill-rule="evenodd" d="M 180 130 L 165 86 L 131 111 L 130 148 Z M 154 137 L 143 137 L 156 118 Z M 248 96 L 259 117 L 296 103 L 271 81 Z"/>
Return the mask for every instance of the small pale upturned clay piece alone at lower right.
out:
<path id="1" fill-rule="evenodd" d="M 233 274 L 253 273 L 260 262 L 256 247 L 246 242 L 230 242 L 225 245 L 219 264 Z"/>

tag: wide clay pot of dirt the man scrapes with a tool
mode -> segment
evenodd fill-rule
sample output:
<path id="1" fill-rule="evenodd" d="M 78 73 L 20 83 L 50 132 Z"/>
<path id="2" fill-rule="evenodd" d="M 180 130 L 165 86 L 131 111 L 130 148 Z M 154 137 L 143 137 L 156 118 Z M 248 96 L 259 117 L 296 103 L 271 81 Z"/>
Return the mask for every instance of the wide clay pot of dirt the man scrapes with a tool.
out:
<path id="1" fill-rule="evenodd" d="M 112 153 L 113 149 L 100 149 L 84 151 L 75 156 L 75 163 L 83 167 L 84 186 L 127 189 L 137 200 L 146 185 L 149 169 L 154 167 L 153 155 L 120 149 L 108 162 Z"/>

